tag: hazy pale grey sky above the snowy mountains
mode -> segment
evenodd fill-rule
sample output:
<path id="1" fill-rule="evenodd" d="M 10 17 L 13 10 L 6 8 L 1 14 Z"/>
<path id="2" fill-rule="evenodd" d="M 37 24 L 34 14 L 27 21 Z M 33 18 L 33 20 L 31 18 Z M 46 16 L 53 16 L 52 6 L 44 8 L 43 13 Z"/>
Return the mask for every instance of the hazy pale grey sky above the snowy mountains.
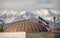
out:
<path id="1" fill-rule="evenodd" d="M 0 0 L 0 9 L 37 10 L 58 9 L 59 0 Z"/>

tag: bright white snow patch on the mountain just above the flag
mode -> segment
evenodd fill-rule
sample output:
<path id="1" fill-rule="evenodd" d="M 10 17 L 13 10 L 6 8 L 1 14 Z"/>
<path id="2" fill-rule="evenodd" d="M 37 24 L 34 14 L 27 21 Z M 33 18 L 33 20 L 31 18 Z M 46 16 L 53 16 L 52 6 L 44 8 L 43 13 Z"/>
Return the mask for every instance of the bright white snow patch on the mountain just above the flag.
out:
<path id="1" fill-rule="evenodd" d="M 52 21 L 52 16 L 50 15 L 49 10 L 47 9 L 36 10 L 36 11 L 33 11 L 33 13 L 37 16 L 41 16 L 46 20 Z"/>

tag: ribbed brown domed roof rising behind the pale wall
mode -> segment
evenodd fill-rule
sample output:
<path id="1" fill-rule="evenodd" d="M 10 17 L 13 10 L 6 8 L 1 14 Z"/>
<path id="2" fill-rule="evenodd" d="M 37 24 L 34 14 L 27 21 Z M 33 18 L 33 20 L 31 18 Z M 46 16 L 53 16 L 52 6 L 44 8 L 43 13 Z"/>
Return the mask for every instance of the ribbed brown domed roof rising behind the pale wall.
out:
<path id="1" fill-rule="evenodd" d="M 11 24 L 4 32 L 41 32 L 40 25 L 33 20 L 21 20 Z"/>

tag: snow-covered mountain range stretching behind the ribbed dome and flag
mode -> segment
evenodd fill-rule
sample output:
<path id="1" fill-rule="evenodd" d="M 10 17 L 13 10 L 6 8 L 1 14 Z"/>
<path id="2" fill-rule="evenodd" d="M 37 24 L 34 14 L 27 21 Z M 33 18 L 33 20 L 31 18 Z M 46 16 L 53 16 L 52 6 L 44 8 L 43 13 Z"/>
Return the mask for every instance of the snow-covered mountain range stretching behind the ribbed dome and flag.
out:
<path id="1" fill-rule="evenodd" d="M 0 10 L 0 20 L 5 22 L 5 25 L 9 25 L 10 23 L 24 20 L 24 19 L 32 19 L 35 21 L 39 21 L 39 16 L 48 20 L 53 25 L 53 16 L 56 16 L 56 25 L 60 23 L 60 11 L 56 10 L 32 10 L 32 11 L 20 11 L 20 10 Z M 58 20 L 59 19 L 59 20 Z M 57 28 L 57 27 L 56 27 Z"/>

